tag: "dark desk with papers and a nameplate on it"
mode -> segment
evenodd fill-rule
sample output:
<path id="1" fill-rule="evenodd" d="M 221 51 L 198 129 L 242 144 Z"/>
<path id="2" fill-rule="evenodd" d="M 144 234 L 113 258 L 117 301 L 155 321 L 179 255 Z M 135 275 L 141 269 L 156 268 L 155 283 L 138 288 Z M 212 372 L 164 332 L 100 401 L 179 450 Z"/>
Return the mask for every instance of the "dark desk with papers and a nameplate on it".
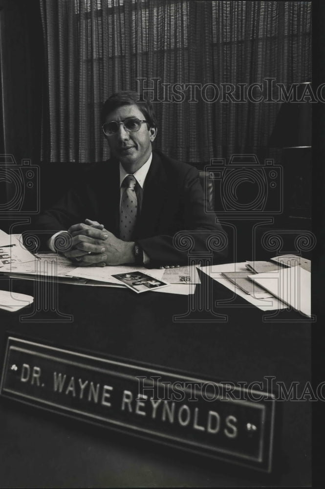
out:
<path id="1" fill-rule="evenodd" d="M 0 288 L 7 282 L 0 280 Z M 8 286 L 8 284 L 7 284 Z M 231 292 L 210 281 L 213 297 Z M 13 290 L 35 296 L 32 281 L 13 280 Z M 198 287 L 195 294 L 200 293 Z M 35 297 L 36 304 L 38 297 Z M 310 380 L 310 324 L 282 311 L 284 321 L 263 322 L 263 313 L 240 298 L 217 308 L 226 322 L 175 322 L 189 298 L 126 289 L 59 284 L 58 307 L 71 322 L 21 322 L 33 306 L 0 311 L 1 365 L 7 332 L 41 343 L 114 356 L 195 373 L 222 381 L 263 381 L 286 386 Z M 230 307 L 232 306 L 232 307 Z M 235 307 L 236 306 L 236 307 Z M 40 318 L 39 315 L 38 318 Z M 41 319 L 42 319 L 41 317 Z M 37 316 L 35 315 L 35 319 Z M 281 462 L 276 481 L 223 467 L 176 449 L 66 419 L 18 402 L 0 400 L 0 487 L 239 487 L 308 486 L 311 483 L 310 402 L 283 402 Z"/>

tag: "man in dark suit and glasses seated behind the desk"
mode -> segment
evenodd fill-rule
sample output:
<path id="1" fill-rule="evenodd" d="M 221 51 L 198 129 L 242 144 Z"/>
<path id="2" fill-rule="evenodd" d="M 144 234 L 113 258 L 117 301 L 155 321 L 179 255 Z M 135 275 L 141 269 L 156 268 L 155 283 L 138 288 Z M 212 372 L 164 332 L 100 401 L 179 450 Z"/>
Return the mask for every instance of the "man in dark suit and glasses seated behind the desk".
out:
<path id="1" fill-rule="evenodd" d="M 173 244 L 175 233 L 192 237 L 196 252 L 207 251 L 208 232 L 224 237 L 216 215 L 205 211 L 198 171 L 152 151 L 155 115 L 150 101 L 138 99 L 131 91 L 108 98 L 101 115 L 111 158 L 95 164 L 36 222 L 43 242 L 77 266 L 183 265 L 188 254 Z M 69 233 L 65 249 L 63 231 Z M 217 251 L 214 261 L 224 256 Z"/>

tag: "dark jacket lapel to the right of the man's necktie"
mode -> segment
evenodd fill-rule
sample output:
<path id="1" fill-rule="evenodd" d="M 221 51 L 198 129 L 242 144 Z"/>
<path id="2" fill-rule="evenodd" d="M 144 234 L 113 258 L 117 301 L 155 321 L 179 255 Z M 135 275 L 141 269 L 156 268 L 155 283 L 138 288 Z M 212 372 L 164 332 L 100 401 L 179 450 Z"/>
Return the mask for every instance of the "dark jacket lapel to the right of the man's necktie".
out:
<path id="1" fill-rule="evenodd" d="M 141 214 L 137 223 L 137 236 L 147 237 L 157 229 L 161 212 L 167 198 L 168 181 L 163 162 L 157 153 L 152 153 L 152 162 L 143 192 Z"/>

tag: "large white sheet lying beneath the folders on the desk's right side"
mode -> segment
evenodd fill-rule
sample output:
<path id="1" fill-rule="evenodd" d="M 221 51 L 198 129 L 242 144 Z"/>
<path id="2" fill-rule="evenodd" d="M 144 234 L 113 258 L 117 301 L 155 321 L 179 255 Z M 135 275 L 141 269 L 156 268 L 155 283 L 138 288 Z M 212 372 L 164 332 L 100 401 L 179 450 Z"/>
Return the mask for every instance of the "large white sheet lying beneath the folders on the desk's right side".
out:
<path id="1" fill-rule="evenodd" d="M 229 282 L 226 278 L 222 278 L 222 272 L 235 272 L 235 271 L 245 271 L 247 272 L 246 262 L 240 263 L 224 263 L 221 265 L 212 265 L 208 267 L 200 267 L 200 269 L 209 275 L 213 280 L 216 280 L 219 284 L 224 285 L 227 289 L 232 290 L 237 295 L 245 299 L 246 301 L 253 304 L 253 306 L 258 307 L 262 311 L 275 311 L 277 309 L 285 309 L 287 305 L 276 297 L 271 298 L 261 298 L 259 294 L 249 295 L 238 289 L 234 284 Z"/>

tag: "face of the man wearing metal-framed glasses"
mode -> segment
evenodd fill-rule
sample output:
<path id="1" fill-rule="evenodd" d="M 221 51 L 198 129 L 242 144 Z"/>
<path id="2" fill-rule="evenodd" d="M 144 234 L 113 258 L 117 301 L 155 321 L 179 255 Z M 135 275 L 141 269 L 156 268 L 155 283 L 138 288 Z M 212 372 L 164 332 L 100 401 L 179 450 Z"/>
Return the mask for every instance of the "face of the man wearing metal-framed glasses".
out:
<path id="1" fill-rule="evenodd" d="M 106 122 L 121 122 L 130 117 L 144 120 L 145 116 L 137 105 L 123 105 L 108 114 Z M 146 123 L 142 123 L 139 131 L 128 132 L 123 125 L 119 125 L 118 132 L 107 136 L 109 148 L 117 159 L 120 160 L 125 170 L 134 173 L 148 160 L 152 152 L 152 141 L 156 137 L 156 130 L 148 129 Z"/>

